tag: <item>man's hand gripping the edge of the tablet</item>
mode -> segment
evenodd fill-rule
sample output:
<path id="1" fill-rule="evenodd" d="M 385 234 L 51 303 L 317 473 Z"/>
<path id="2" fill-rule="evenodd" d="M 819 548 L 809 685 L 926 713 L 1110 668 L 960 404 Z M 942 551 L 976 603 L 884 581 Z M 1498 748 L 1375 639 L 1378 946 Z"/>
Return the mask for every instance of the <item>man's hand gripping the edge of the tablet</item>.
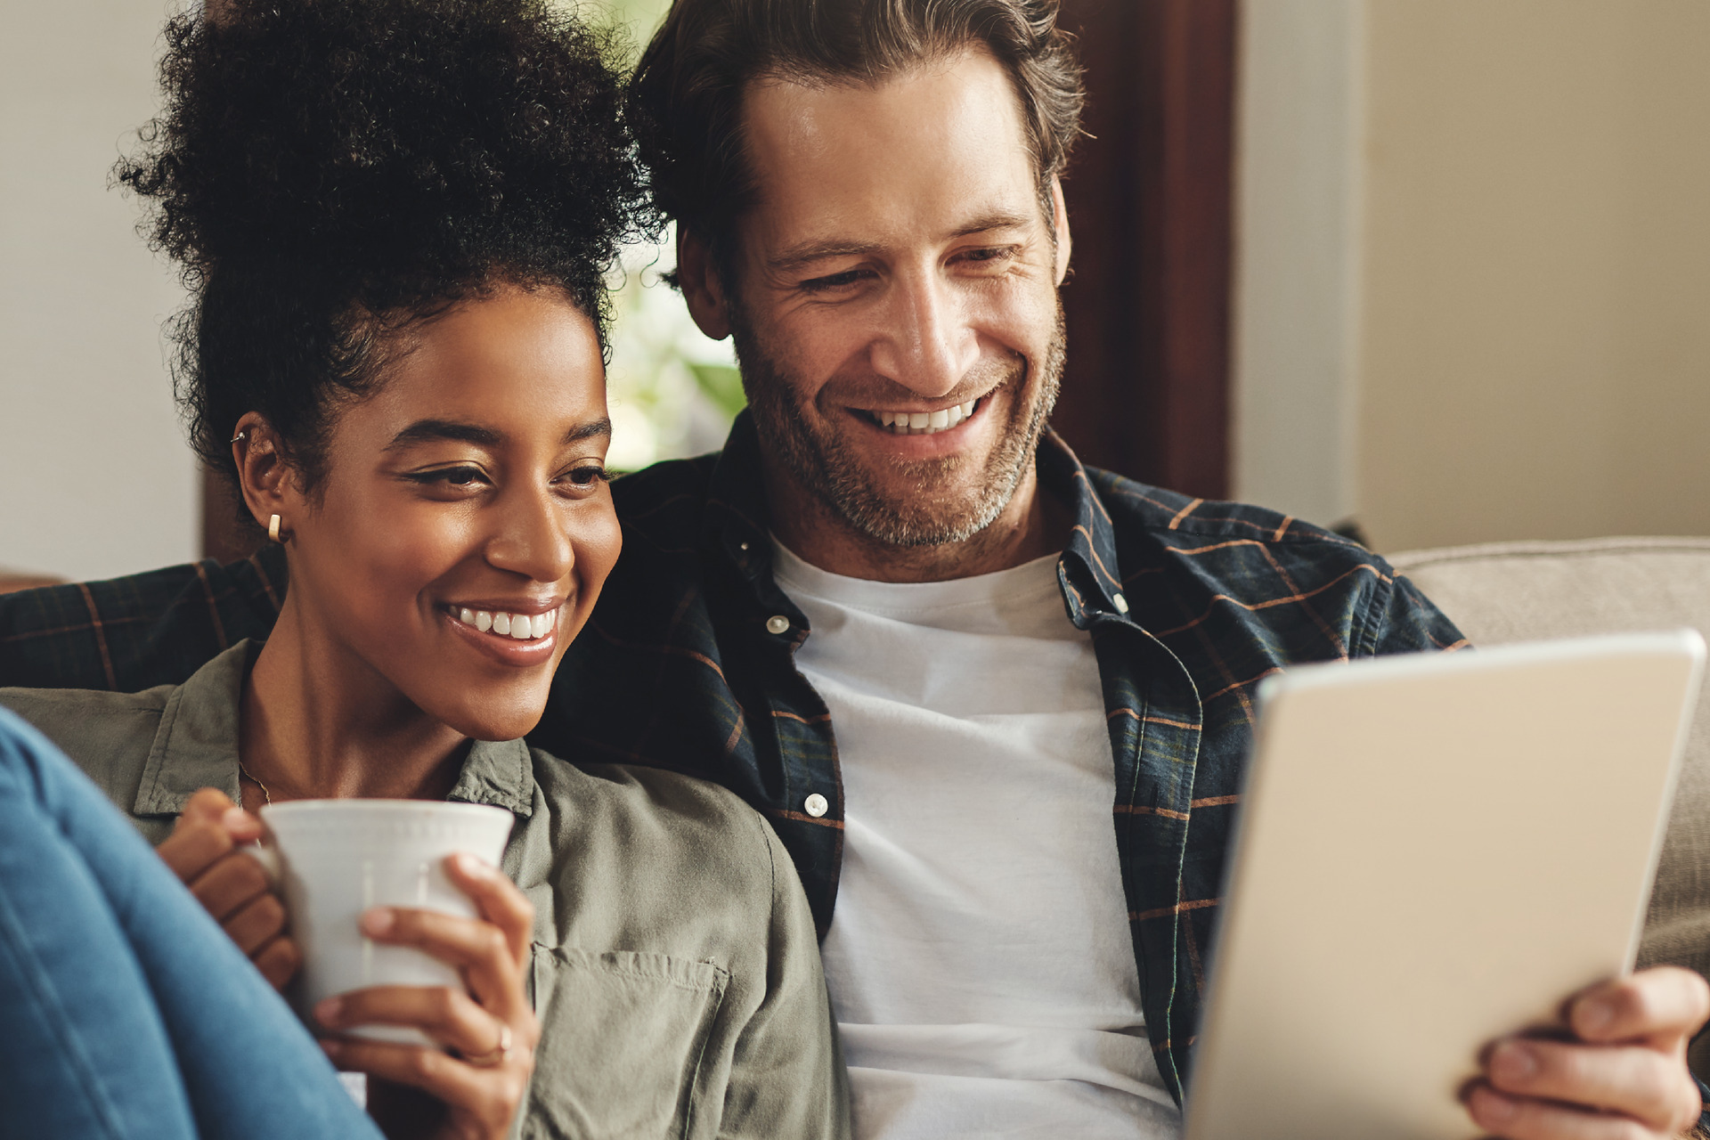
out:
<path id="1" fill-rule="evenodd" d="M 1568 1005 L 1577 1041 L 1505 1037 L 1467 1094 L 1505 1140 L 1672 1140 L 1701 1111 L 1686 1043 L 1710 1017 L 1710 984 L 1660 966 L 1592 986 Z"/>

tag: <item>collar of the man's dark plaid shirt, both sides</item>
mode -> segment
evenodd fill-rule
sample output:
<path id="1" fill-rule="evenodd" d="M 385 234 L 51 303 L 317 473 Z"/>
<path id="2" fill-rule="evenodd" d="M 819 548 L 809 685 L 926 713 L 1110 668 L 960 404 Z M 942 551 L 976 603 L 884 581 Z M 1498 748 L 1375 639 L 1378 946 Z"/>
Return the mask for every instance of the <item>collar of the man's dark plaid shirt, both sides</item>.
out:
<path id="1" fill-rule="evenodd" d="M 1053 431 L 1040 439 L 1036 465 L 1040 487 L 1067 504 L 1074 516 L 1057 569 L 1069 619 L 1081 629 L 1100 615 L 1127 622 L 1129 600 L 1122 593 L 1115 525 L 1086 468 Z M 749 581 L 770 576 L 771 511 L 761 473 L 759 434 L 747 410 L 732 424 L 713 468 L 701 542 L 705 549 L 722 552 Z"/>

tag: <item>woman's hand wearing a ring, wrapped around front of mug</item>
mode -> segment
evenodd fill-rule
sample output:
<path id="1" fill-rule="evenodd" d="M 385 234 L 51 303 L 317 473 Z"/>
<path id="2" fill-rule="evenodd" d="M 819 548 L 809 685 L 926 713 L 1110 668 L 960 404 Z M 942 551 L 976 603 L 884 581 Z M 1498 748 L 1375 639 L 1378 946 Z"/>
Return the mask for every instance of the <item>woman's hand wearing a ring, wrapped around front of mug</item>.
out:
<path id="1" fill-rule="evenodd" d="M 534 906 L 501 872 L 477 858 L 453 855 L 446 873 L 482 918 L 438 911 L 374 908 L 363 916 L 363 933 L 374 942 L 426 950 L 457 966 L 469 993 L 445 986 L 374 986 L 315 1007 L 330 1031 L 352 1025 L 410 1025 L 455 1053 L 363 1037 L 321 1041 L 345 1072 L 393 1080 L 445 1102 L 443 1140 L 498 1140 L 506 1135 L 540 1041 L 523 991 Z"/>

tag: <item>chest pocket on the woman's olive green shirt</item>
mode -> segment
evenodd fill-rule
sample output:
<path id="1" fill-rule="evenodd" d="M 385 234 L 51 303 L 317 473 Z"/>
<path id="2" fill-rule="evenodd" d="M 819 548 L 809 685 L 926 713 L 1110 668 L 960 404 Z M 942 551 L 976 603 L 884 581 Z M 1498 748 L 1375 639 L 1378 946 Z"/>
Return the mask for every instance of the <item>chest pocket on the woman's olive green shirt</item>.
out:
<path id="1" fill-rule="evenodd" d="M 699 1075 L 728 981 L 711 962 L 537 943 L 542 1034 L 522 1135 L 686 1137 L 708 1101 L 716 1128 L 723 1089 Z"/>

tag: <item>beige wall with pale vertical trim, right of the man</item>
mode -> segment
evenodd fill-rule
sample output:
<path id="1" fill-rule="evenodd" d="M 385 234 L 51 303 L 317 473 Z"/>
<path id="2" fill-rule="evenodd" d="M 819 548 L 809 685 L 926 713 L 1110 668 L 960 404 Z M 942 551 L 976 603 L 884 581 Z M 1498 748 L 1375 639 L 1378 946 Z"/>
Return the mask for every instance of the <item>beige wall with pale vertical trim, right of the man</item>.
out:
<path id="1" fill-rule="evenodd" d="M 1247 0 L 1236 494 L 1710 533 L 1710 3 Z"/>

